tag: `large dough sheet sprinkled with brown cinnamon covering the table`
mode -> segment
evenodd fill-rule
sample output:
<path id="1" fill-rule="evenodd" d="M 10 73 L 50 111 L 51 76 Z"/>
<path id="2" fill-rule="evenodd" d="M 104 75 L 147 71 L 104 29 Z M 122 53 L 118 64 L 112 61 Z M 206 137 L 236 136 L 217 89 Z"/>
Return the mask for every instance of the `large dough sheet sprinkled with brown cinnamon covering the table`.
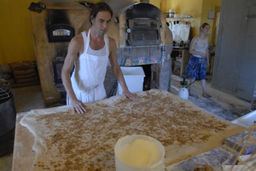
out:
<path id="1" fill-rule="evenodd" d="M 222 144 L 245 128 L 203 111 L 165 90 L 86 103 L 85 114 L 69 107 L 33 110 L 20 123 L 32 132 L 32 170 L 115 170 L 113 147 L 128 134 L 145 134 L 165 146 L 166 166 Z"/>

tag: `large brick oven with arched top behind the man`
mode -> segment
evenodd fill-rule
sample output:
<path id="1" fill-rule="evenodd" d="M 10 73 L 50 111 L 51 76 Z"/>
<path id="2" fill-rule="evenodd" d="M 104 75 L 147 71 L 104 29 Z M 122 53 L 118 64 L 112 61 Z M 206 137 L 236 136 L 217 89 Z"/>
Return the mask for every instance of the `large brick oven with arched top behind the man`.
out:
<path id="1" fill-rule="evenodd" d="M 168 90 L 172 73 L 172 32 L 166 25 L 166 15 L 150 3 L 131 0 L 104 2 L 113 9 L 108 36 L 117 43 L 119 65 L 124 63 L 125 66 L 147 68 L 150 88 Z M 90 28 L 92 4 L 90 1 L 42 0 L 33 5 L 44 8 L 30 8 L 45 106 L 65 104 L 61 67 L 71 38 Z M 114 82 L 108 66 L 105 79 L 107 94 Z"/>

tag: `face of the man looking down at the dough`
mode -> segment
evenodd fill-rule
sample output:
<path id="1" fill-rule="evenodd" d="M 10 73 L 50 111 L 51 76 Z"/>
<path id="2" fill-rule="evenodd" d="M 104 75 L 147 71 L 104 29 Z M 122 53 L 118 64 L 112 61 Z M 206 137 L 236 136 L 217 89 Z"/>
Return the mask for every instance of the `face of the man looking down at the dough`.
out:
<path id="1" fill-rule="evenodd" d="M 100 11 L 95 19 L 91 20 L 92 26 L 101 35 L 108 31 L 111 22 L 111 14 L 108 11 Z"/>

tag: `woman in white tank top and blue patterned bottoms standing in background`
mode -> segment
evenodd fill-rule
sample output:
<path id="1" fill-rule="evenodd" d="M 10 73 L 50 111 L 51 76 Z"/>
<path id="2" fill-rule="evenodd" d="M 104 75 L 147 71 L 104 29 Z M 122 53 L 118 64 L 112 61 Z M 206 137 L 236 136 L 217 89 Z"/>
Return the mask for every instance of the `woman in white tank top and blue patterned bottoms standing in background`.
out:
<path id="1" fill-rule="evenodd" d="M 197 97 L 197 95 L 192 91 L 193 83 L 196 79 L 201 80 L 202 96 L 210 98 L 211 96 L 207 94 L 207 67 L 209 66 L 209 54 L 208 54 L 208 31 L 210 25 L 208 23 L 203 23 L 200 26 L 200 35 L 195 36 L 189 47 L 189 53 L 192 54 L 189 59 L 187 76 L 190 78 L 189 84 L 189 95 L 192 97 Z"/>

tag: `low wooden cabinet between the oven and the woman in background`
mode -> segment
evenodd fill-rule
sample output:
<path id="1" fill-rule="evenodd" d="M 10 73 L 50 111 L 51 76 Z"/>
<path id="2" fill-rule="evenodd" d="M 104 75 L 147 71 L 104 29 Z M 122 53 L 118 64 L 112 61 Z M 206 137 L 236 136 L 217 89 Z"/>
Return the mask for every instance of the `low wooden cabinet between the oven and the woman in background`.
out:
<path id="1" fill-rule="evenodd" d="M 182 77 L 183 73 L 187 72 L 187 66 L 189 63 L 189 48 L 172 48 L 172 69 L 173 73 Z"/>

